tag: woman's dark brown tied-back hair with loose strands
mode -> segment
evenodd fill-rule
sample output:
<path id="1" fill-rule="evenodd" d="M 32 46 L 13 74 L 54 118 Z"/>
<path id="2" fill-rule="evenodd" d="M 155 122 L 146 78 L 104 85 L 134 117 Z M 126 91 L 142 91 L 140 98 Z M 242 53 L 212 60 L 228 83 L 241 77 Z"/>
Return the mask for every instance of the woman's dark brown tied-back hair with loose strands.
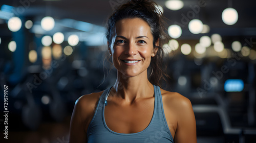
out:
<path id="1" fill-rule="evenodd" d="M 163 66 L 163 38 L 168 39 L 164 32 L 164 20 L 162 12 L 156 7 L 157 4 L 148 0 L 130 0 L 127 3 L 119 6 L 113 14 L 109 17 L 106 23 L 106 39 L 108 40 L 110 47 L 112 44 L 112 37 L 115 29 L 115 23 L 118 20 L 125 18 L 141 18 L 148 23 L 151 28 L 151 33 L 154 37 L 153 45 L 154 48 L 158 48 L 156 56 L 151 57 L 151 63 L 148 67 L 148 80 L 161 87 L 161 81 L 169 78 L 166 74 L 166 66 Z M 159 46 L 156 42 L 159 41 Z M 107 56 L 109 59 L 109 56 Z"/>

